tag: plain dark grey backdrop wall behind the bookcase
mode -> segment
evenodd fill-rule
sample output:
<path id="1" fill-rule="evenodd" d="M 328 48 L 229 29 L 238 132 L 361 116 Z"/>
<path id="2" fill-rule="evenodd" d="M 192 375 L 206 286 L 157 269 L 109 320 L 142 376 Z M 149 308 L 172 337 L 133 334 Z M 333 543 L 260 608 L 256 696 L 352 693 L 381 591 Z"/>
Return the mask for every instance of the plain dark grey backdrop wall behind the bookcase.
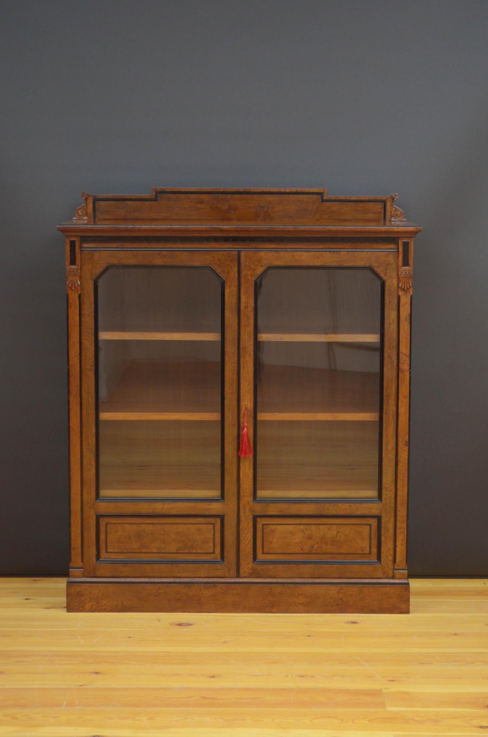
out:
<path id="1" fill-rule="evenodd" d="M 487 562 L 487 0 L 0 6 L 0 572 L 68 567 L 63 237 L 82 189 L 400 192 L 416 239 L 409 563 Z"/>

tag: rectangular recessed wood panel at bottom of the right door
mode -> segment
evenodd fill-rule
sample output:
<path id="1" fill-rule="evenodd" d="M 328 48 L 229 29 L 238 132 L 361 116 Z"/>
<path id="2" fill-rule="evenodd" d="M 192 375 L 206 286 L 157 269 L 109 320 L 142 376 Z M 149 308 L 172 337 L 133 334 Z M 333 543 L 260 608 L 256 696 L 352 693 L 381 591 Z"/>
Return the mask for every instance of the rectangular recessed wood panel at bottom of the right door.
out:
<path id="1" fill-rule="evenodd" d="M 377 560 L 377 517 L 257 517 L 257 562 Z"/>

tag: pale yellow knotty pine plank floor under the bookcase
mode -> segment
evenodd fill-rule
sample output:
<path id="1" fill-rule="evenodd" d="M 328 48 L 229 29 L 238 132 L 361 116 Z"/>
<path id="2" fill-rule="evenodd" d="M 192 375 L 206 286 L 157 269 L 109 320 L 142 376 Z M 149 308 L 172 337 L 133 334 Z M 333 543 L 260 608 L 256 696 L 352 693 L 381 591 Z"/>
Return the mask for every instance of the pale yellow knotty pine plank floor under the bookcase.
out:
<path id="1" fill-rule="evenodd" d="M 488 580 L 411 615 L 66 614 L 0 579 L 0 736 L 488 734 Z"/>

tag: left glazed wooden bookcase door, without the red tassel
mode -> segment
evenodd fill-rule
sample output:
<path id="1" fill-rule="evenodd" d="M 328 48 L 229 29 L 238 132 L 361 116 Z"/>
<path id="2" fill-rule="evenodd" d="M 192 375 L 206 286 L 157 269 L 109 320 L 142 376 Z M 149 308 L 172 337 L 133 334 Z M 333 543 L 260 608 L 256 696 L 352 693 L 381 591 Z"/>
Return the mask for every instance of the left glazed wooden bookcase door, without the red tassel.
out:
<path id="1" fill-rule="evenodd" d="M 82 253 L 86 576 L 235 576 L 237 254 Z"/>

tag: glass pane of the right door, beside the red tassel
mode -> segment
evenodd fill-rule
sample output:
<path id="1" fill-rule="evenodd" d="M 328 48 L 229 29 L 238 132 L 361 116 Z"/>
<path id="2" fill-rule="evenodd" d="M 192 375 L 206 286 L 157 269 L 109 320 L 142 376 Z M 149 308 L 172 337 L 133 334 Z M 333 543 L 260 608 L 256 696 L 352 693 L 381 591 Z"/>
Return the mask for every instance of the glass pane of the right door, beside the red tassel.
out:
<path id="1" fill-rule="evenodd" d="M 256 282 L 258 498 L 377 498 L 383 282 L 269 268 Z"/>

